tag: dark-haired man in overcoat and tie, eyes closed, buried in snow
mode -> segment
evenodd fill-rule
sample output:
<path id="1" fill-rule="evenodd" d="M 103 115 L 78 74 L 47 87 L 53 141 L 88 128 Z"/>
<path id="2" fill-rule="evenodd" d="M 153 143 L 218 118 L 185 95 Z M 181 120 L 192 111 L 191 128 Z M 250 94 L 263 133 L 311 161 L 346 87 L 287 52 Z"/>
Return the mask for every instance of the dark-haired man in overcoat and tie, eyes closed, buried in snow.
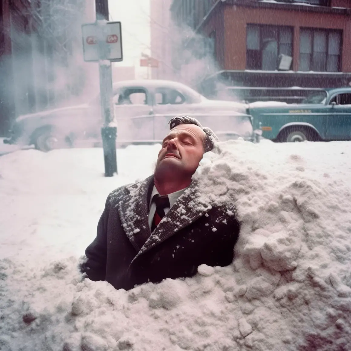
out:
<path id="1" fill-rule="evenodd" d="M 239 223 L 229 207 L 201 200 L 201 189 L 192 181 L 215 140 L 196 119 L 171 119 L 154 174 L 108 196 L 97 236 L 81 265 L 88 278 L 128 290 L 191 277 L 201 264 L 232 262 Z"/>

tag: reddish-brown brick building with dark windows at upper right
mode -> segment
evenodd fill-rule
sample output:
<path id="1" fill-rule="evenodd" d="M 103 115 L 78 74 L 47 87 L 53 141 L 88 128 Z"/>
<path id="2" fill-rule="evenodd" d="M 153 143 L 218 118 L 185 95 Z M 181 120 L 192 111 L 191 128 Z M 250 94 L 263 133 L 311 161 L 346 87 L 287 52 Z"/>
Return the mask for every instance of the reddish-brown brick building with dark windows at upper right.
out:
<path id="1" fill-rule="evenodd" d="M 207 96 L 218 94 L 218 82 L 249 101 L 287 102 L 351 85 L 350 0 L 174 0 L 171 12 L 212 43 L 217 70 L 199 86 Z"/>

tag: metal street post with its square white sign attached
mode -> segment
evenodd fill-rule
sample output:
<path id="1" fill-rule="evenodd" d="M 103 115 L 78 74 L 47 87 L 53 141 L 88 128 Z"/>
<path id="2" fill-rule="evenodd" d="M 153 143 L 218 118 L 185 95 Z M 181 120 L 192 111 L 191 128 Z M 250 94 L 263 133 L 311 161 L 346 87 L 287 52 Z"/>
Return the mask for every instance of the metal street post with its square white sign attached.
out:
<path id="1" fill-rule="evenodd" d="M 113 108 L 111 62 L 122 61 L 120 22 L 108 22 L 107 0 L 95 0 L 96 22 L 82 25 L 84 60 L 99 62 L 100 104 L 104 125 L 101 128 L 105 177 L 117 173 L 117 123 Z"/>

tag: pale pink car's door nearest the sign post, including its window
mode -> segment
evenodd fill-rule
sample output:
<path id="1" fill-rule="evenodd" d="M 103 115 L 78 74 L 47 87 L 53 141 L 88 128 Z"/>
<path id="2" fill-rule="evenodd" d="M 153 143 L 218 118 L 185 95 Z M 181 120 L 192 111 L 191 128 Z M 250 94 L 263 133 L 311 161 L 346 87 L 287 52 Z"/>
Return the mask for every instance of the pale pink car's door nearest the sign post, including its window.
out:
<path id="1" fill-rule="evenodd" d="M 113 102 L 119 143 L 153 140 L 152 99 L 146 87 L 122 87 Z"/>

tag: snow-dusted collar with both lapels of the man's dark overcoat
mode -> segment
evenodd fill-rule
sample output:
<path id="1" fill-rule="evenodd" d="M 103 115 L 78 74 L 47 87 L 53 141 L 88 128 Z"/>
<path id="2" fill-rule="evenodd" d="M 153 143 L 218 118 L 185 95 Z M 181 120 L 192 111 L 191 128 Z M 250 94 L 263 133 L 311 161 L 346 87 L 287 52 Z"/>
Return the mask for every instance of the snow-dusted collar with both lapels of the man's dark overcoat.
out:
<path id="1" fill-rule="evenodd" d="M 201 198 L 197 182 L 192 181 L 150 235 L 148 226 L 148 197 L 150 196 L 148 195 L 151 194 L 152 188 L 153 176 L 129 185 L 127 186 L 128 194 L 118 204 L 124 231 L 138 251 L 133 261 L 196 221 L 212 208 L 213 201 Z"/>

